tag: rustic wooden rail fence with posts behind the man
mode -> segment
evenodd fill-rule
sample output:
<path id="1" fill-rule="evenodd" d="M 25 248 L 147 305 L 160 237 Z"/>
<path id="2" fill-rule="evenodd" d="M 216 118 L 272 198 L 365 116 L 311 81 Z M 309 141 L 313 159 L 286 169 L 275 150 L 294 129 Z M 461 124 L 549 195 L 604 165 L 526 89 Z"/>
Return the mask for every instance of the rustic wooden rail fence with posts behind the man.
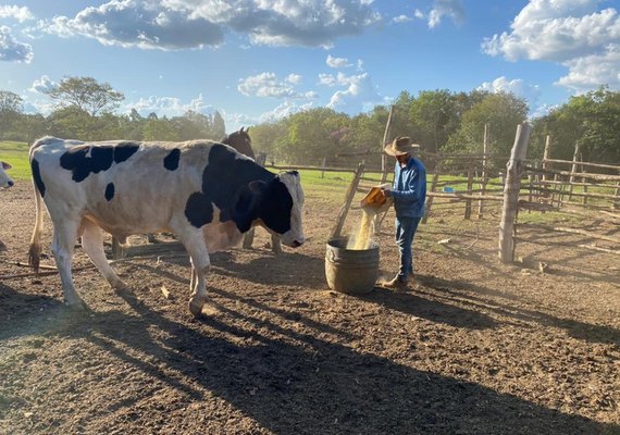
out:
<path id="1" fill-rule="evenodd" d="M 559 211 L 579 213 L 574 208 L 596 210 L 609 219 L 619 220 L 620 165 L 583 162 L 575 150 L 572 161 L 551 159 L 551 140 L 547 138 L 544 158 L 526 160 L 530 127 L 526 123 L 517 129 L 510 157 L 491 153 L 429 153 L 420 158 L 427 167 L 430 184 L 426 191 L 426 214 L 422 223 L 449 209 L 450 214 L 462 208 L 464 220 L 497 219 L 501 212 L 498 235 L 498 257 L 503 262 L 512 262 L 519 227 L 519 210 L 528 212 Z M 486 150 L 486 147 L 483 147 Z M 342 229 L 355 192 L 367 192 L 372 186 L 390 181 L 392 166 L 377 169 L 381 152 L 364 151 L 343 153 L 344 159 L 357 158 L 373 163 L 350 165 L 268 165 L 273 170 L 320 170 L 325 172 L 352 172 L 354 182 L 347 190 L 345 204 L 338 214 L 337 232 Z M 333 160 L 332 160 L 333 161 Z M 489 214 L 488 211 L 492 211 Z M 488 215 L 487 215 L 488 214 Z M 580 228 L 554 227 L 553 231 L 584 234 Z M 605 235 L 587 234 L 590 237 L 618 243 L 620 239 Z M 587 246 L 584 246 L 587 248 Z M 612 253 L 620 250 L 598 249 Z"/>

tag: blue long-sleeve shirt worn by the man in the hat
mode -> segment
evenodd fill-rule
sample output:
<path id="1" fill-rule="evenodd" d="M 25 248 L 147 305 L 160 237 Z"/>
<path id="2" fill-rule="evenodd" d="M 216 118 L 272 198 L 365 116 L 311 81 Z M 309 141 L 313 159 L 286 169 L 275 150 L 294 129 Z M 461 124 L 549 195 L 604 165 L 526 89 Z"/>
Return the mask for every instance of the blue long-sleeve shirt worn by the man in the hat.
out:
<path id="1" fill-rule="evenodd" d="M 392 188 L 397 217 L 423 217 L 426 202 L 426 169 L 413 157 L 405 167 L 396 162 Z"/>

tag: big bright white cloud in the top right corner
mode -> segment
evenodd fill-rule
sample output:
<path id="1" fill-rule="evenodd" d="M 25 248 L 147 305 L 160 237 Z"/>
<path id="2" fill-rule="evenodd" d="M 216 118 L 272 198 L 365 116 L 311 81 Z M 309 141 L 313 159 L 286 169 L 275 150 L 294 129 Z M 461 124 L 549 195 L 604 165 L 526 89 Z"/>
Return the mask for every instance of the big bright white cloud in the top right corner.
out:
<path id="1" fill-rule="evenodd" d="M 510 32 L 485 38 L 482 49 L 509 61 L 559 63 L 569 70 L 557 84 L 587 89 L 599 84 L 620 88 L 620 16 L 612 8 L 597 11 L 599 0 L 530 0 Z M 602 80 L 602 82 L 597 82 Z"/>

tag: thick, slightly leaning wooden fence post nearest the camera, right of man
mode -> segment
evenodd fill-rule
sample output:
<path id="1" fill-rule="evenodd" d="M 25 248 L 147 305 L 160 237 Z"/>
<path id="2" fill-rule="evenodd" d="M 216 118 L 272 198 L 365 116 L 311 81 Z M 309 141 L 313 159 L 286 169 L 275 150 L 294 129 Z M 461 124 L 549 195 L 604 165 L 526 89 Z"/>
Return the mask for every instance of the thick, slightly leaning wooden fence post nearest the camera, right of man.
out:
<path id="1" fill-rule="evenodd" d="M 510 153 L 510 160 L 506 164 L 506 184 L 504 186 L 504 207 L 501 221 L 499 222 L 499 259 L 504 263 L 514 260 L 514 219 L 519 209 L 519 190 L 521 188 L 521 175 L 524 169 L 525 153 L 530 140 L 530 124 L 526 122 L 517 126 L 514 145 Z"/>

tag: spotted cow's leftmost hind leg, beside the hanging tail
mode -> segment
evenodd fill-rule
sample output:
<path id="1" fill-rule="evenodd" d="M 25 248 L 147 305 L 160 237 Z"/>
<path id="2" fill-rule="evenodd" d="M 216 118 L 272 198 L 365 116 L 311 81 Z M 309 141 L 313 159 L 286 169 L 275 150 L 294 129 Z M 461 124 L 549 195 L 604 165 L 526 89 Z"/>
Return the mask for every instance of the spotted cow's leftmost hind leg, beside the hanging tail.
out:
<path id="1" fill-rule="evenodd" d="M 71 261 L 73 259 L 75 241 L 77 240 L 79 222 L 66 217 L 62 221 L 54 220 L 54 222 L 61 222 L 54 225 L 52 253 L 62 283 L 64 302 L 74 309 L 87 308 L 86 303 L 84 303 L 79 295 L 75 291 L 73 276 L 71 274 Z"/>

